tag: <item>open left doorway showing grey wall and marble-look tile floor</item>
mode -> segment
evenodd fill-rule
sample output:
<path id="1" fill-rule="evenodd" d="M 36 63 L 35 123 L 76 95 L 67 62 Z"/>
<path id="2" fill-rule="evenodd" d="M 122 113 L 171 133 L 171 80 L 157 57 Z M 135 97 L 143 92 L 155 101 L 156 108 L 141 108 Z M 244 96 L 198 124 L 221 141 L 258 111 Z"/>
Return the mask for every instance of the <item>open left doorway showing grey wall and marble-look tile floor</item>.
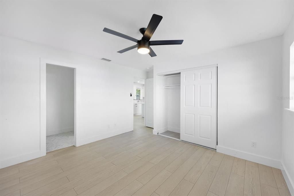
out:
<path id="1" fill-rule="evenodd" d="M 46 64 L 46 152 L 75 144 L 74 71 Z"/>

